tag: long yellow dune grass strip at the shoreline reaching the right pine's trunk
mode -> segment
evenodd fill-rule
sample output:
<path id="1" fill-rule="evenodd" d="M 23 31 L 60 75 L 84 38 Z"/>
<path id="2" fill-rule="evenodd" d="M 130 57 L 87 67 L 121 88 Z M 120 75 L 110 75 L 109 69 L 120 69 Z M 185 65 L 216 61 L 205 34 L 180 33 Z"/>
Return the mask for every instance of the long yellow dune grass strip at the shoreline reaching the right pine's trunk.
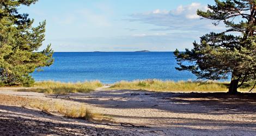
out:
<path id="1" fill-rule="evenodd" d="M 192 82 L 192 81 L 161 81 L 159 79 L 146 79 L 136 81 L 120 81 L 114 83 L 109 89 L 130 89 L 147 91 L 172 91 L 172 92 L 227 92 L 227 82 Z M 246 91 L 248 88 L 240 89 Z"/>

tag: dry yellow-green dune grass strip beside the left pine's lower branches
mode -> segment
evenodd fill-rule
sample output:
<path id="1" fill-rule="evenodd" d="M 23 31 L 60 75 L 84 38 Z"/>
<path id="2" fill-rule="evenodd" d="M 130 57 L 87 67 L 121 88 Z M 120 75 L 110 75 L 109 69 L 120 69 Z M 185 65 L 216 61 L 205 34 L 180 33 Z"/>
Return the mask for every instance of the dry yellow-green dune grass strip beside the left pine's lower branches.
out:
<path id="1" fill-rule="evenodd" d="M 90 92 L 101 87 L 100 81 L 63 83 L 53 81 L 36 82 L 33 88 L 21 89 L 19 91 L 44 92 L 45 94 L 69 94 L 75 92 Z"/>

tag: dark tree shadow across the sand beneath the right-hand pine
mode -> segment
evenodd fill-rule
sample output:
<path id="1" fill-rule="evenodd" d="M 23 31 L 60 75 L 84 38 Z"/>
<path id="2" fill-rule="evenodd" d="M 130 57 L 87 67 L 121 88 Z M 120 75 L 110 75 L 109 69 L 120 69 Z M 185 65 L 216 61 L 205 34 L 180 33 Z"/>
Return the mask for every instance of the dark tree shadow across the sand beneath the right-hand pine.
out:
<path id="1" fill-rule="evenodd" d="M 47 97 L 55 98 L 56 95 Z M 256 111 L 256 94 L 147 92 L 107 90 L 59 95 L 58 98 L 103 108 L 159 109 L 173 113 L 243 114 Z M 189 108 L 188 108 L 189 107 Z"/>

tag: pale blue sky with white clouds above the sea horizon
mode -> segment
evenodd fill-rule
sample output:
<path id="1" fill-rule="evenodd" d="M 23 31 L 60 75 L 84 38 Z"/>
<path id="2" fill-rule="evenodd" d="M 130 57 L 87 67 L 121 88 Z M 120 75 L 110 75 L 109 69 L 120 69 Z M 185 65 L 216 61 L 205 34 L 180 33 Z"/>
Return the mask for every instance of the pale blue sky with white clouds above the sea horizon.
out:
<path id="1" fill-rule="evenodd" d="M 209 32 L 223 30 L 200 19 L 214 0 L 39 0 L 20 7 L 46 20 L 45 48 L 55 52 L 184 51 Z"/>

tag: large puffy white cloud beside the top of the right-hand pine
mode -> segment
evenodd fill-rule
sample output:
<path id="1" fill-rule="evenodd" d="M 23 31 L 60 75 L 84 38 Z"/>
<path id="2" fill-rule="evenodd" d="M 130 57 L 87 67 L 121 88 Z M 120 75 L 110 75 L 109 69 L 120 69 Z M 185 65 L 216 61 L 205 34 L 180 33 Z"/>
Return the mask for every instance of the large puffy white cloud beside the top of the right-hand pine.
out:
<path id="1" fill-rule="evenodd" d="M 191 3 L 189 5 L 180 5 L 176 9 L 169 11 L 156 9 L 146 13 L 132 14 L 130 15 L 131 18 L 128 20 L 132 22 L 154 24 L 155 26 L 160 26 L 162 30 L 211 31 L 215 26 L 209 27 L 209 24 L 212 23 L 210 20 L 200 20 L 200 16 L 197 15 L 198 9 L 205 11 L 208 7 L 200 3 Z M 223 29 L 223 27 L 217 26 L 214 29 L 219 30 Z"/>

